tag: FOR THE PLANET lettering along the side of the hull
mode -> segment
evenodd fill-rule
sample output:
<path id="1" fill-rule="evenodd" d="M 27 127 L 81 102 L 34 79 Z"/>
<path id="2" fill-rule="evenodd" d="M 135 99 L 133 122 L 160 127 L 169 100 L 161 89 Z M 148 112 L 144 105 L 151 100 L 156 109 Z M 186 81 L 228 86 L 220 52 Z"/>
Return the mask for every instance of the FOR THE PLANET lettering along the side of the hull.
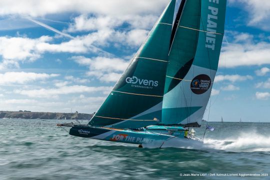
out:
<path id="1" fill-rule="evenodd" d="M 136 143 L 151 143 L 153 141 L 150 138 L 128 136 L 128 134 L 114 134 L 110 140 Z"/>

